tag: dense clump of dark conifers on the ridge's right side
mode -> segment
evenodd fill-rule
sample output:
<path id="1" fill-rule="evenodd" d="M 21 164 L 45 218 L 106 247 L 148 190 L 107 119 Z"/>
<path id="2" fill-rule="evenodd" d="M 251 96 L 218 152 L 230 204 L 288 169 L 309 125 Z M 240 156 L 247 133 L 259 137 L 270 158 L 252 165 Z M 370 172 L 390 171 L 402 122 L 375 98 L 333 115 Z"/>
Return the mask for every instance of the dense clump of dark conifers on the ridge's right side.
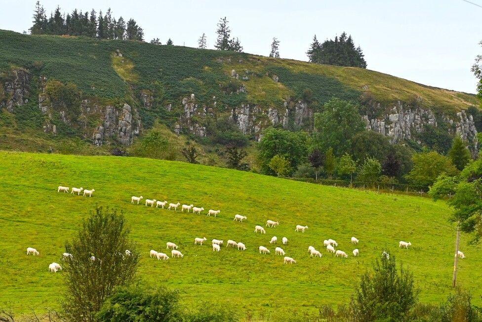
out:
<path id="1" fill-rule="evenodd" d="M 355 48 L 352 36 L 347 37 L 346 33 L 321 44 L 315 35 L 306 54 L 312 63 L 366 68 L 360 46 Z"/>

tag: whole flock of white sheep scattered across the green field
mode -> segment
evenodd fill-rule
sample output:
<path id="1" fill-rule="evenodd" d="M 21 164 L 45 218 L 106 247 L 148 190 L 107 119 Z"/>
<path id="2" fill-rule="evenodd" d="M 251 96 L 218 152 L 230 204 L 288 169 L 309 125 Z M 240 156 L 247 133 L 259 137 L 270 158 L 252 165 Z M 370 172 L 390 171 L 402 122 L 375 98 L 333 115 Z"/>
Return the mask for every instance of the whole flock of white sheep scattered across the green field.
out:
<path id="1" fill-rule="evenodd" d="M 59 186 L 58 189 L 57 189 L 57 192 L 60 192 L 60 191 L 63 191 L 63 192 L 69 192 L 69 187 L 64 187 L 64 186 Z M 80 195 L 80 193 L 83 191 L 83 196 L 86 196 L 86 195 L 89 195 L 89 197 L 92 196 L 92 193 L 95 191 L 94 189 L 91 189 L 91 190 L 87 190 L 87 189 L 83 189 L 82 187 L 80 188 L 76 188 L 76 187 L 73 187 L 71 189 L 71 194 L 75 194 L 77 193 L 77 195 Z M 139 202 L 143 199 L 144 197 L 143 196 L 139 196 L 139 197 L 136 197 L 136 196 L 132 196 L 131 197 L 131 203 L 134 204 L 135 202 L 137 203 L 137 205 L 139 204 Z M 156 205 L 156 208 L 158 207 L 161 207 L 162 209 L 164 209 L 164 207 L 167 205 L 167 201 L 159 201 L 159 200 L 156 200 L 156 199 L 146 199 L 145 201 L 145 205 L 146 206 L 150 206 L 150 207 L 154 207 L 154 205 Z M 181 206 L 181 204 L 178 202 L 176 204 L 173 204 L 173 203 L 169 203 L 167 205 L 167 209 L 168 210 L 171 210 L 173 209 L 174 211 L 177 211 L 177 208 Z M 181 206 L 181 212 L 184 212 L 184 211 L 187 211 L 188 213 L 192 210 L 192 212 L 194 214 L 201 214 L 201 212 L 204 211 L 204 208 L 202 207 L 194 207 L 194 205 L 182 205 Z M 207 212 L 207 216 L 210 216 L 210 215 L 214 215 L 215 217 L 217 215 L 219 215 L 221 211 L 220 210 L 213 210 L 213 209 L 210 209 L 208 212 Z M 247 217 L 244 216 L 244 215 L 235 215 L 234 216 L 234 221 L 239 221 L 239 222 L 242 222 L 243 220 L 246 220 Z M 280 224 L 279 221 L 274 221 L 274 220 L 271 220 L 271 219 L 268 219 L 266 220 L 266 225 L 265 227 L 270 227 L 270 228 L 273 228 L 273 227 L 277 227 L 278 225 Z M 296 225 L 295 227 L 295 231 L 297 232 L 302 232 L 304 233 L 305 230 L 308 229 L 308 226 L 303 226 L 303 225 Z M 261 233 L 261 234 L 266 234 L 266 230 L 263 226 L 260 226 L 260 225 L 256 225 L 254 227 L 254 233 Z M 205 237 L 196 237 L 194 239 L 194 245 L 201 245 L 203 244 L 203 242 L 205 242 L 207 239 Z M 282 244 L 283 245 L 287 245 L 288 243 L 288 239 L 286 237 L 283 237 L 281 239 L 282 241 Z M 273 244 L 277 244 L 278 242 L 278 237 L 276 236 L 273 236 L 270 240 L 270 244 L 273 245 Z M 354 245 L 357 245 L 359 243 L 359 240 L 356 238 L 356 237 L 352 237 L 351 238 L 351 243 L 354 244 Z M 221 250 L 221 245 L 224 244 L 224 240 L 218 240 L 218 239 L 213 239 L 211 240 L 211 245 L 212 245 L 212 250 L 213 251 L 220 251 Z M 410 242 L 404 242 L 404 241 L 400 241 L 399 242 L 399 248 L 405 248 L 405 249 L 408 249 L 408 246 L 411 246 L 412 244 Z M 235 242 L 234 240 L 228 240 L 227 243 L 226 243 L 226 247 L 233 247 L 233 248 L 238 248 L 238 250 L 246 250 L 246 246 L 241 243 L 241 242 Z M 335 247 L 338 247 L 338 243 L 333 240 L 333 239 L 327 239 L 327 240 L 324 240 L 323 241 L 323 246 L 326 247 L 326 251 L 328 253 L 334 253 L 335 254 L 335 257 L 338 257 L 340 256 L 341 258 L 348 258 L 348 255 L 345 251 L 343 250 L 335 250 Z M 166 243 L 166 249 L 167 250 L 171 250 L 171 256 L 172 257 L 184 257 L 184 255 L 182 254 L 182 252 L 180 250 L 178 250 L 178 246 L 172 242 L 167 242 Z M 265 247 L 265 246 L 259 246 L 258 248 L 259 250 L 259 253 L 260 254 L 266 254 L 266 253 L 270 253 L 270 250 Z M 315 249 L 313 246 L 309 246 L 308 247 L 308 252 L 310 253 L 310 257 L 321 257 L 323 256 L 321 254 L 321 252 L 317 249 Z M 360 253 L 360 250 L 359 249 L 354 249 L 352 251 L 353 253 L 353 256 L 358 256 L 359 253 Z M 27 248 L 27 255 L 30 255 L 30 254 L 33 254 L 34 256 L 35 255 L 39 255 L 39 251 L 37 251 L 36 249 L 34 248 Z M 130 250 L 125 250 L 125 254 L 126 255 L 130 255 L 131 252 Z M 281 256 L 284 256 L 283 258 L 283 263 L 287 264 L 293 264 L 293 263 L 296 263 L 296 260 L 294 260 L 293 258 L 289 257 L 289 256 L 285 256 L 285 251 L 281 248 L 281 247 L 276 247 L 275 248 L 275 254 L 277 255 L 281 255 Z M 457 253 L 457 256 L 459 258 L 465 258 L 465 255 L 462 251 L 458 251 Z M 63 253 L 63 259 L 66 259 L 68 257 L 71 257 L 72 258 L 72 254 L 70 253 Z M 150 257 L 151 258 L 157 258 L 158 260 L 167 260 L 169 259 L 169 256 L 166 254 L 166 253 L 163 253 L 163 252 L 158 252 L 156 250 L 151 250 L 150 251 Z M 90 260 L 94 261 L 96 260 L 94 256 L 91 256 L 90 257 Z M 48 265 L 48 271 L 49 272 L 54 272 L 56 273 L 58 270 L 62 270 L 62 267 L 58 264 L 58 263 L 51 263 L 50 265 Z"/>

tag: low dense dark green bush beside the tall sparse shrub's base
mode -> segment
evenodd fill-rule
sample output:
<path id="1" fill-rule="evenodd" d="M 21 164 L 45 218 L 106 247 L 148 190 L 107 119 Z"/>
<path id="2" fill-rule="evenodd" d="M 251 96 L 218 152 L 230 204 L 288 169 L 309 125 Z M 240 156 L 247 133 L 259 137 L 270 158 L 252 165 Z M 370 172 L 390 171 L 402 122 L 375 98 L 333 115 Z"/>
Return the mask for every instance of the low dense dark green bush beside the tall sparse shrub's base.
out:
<path id="1" fill-rule="evenodd" d="M 100 322 L 183 322 L 177 291 L 120 287 L 97 314 Z"/>

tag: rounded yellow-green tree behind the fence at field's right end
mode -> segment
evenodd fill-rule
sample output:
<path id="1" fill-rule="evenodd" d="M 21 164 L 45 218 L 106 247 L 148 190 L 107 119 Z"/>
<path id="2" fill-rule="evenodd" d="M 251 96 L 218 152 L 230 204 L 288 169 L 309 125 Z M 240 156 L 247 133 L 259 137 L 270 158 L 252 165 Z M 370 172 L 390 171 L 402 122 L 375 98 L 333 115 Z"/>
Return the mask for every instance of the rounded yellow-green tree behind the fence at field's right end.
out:
<path id="1" fill-rule="evenodd" d="M 413 184 L 429 186 L 442 173 L 453 176 L 457 169 L 448 157 L 431 151 L 414 154 L 413 169 L 405 177 Z"/>

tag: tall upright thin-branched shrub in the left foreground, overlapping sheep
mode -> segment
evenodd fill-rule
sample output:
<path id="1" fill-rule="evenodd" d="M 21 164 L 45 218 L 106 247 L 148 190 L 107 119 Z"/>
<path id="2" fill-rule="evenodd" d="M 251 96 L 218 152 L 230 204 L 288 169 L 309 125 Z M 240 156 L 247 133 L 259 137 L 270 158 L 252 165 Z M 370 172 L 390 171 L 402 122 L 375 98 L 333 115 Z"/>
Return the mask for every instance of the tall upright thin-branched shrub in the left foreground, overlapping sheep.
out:
<path id="1" fill-rule="evenodd" d="M 95 314 L 105 299 L 136 276 L 139 253 L 129 238 L 124 216 L 98 207 L 84 219 L 78 236 L 65 250 L 72 254 L 63 265 L 67 291 L 62 305 L 67 318 L 97 321 Z"/>

